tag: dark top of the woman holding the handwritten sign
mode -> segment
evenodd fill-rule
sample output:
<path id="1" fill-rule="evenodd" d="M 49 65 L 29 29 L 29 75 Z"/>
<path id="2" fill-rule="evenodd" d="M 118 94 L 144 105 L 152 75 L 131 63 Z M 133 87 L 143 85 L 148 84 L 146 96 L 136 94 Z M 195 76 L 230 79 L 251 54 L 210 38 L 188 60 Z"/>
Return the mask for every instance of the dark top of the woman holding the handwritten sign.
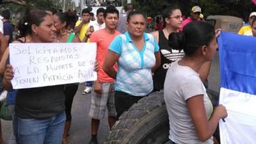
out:
<path id="1" fill-rule="evenodd" d="M 20 43 L 23 42 L 17 39 Z M 8 63 L 10 63 L 8 57 Z M 17 90 L 15 115 L 20 118 L 49 118 L 65 110 L 63 85 Z"/>

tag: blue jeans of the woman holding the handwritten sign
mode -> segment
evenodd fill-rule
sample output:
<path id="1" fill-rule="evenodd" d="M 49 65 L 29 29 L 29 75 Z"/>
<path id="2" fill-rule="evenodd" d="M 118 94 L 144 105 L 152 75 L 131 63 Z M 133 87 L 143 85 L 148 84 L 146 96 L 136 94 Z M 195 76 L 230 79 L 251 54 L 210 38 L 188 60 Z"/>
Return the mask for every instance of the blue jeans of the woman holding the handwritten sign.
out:
<path id="1" fill-rule="evenodd" d="M 62 113 L 43 119 L 14 116 L 17 144 L 61 144 L 66 115 Z"/>

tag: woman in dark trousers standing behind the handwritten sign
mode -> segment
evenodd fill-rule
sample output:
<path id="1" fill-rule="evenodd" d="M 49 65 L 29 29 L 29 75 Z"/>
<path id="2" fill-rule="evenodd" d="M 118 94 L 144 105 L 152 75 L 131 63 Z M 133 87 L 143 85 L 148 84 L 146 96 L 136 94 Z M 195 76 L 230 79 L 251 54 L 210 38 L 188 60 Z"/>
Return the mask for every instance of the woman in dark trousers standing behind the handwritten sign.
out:
<path id="1" fill-rule="evenodd" d="M 72 32 L 74 26 L 76 24 L 76 15 L 72 15 L 70 13 L 57 12 L 52 17 L 54 21 L 54 26 L 56 28 L 56 40 L 55 42 L 80 42 L 79 38 Z M 78 84 L 65 84 L 64 92 L 65 92 L 65 113 L 67 116 L 65 129 L 63 133 L 62 143 L 67 144 L 67 135 L 71 126 L 71 108 L 74 96 L 76 95 L 76 91 L 78 88 Z"/>

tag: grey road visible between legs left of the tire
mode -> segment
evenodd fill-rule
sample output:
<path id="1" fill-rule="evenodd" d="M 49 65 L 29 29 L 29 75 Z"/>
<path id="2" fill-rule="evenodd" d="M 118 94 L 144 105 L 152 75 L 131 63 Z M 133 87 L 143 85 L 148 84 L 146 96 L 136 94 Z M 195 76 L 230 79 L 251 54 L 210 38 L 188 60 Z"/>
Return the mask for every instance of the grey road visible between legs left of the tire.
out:
<path id="1" fill-rule="evenodd" d="M 91 138 L 91 120 L 88 117 L 91 96 L 90 94 L 82 95 L 81 92 L 83 90 L 84 84 L 80 84 L 72 106 L 72 125 L 70 128 L 70 136 L 68 137 L 70 144 L 87 144 Z M 4 120 L 1 121 L 4 140 L 7 141 L 12 132 L 12 123 Z M 103 143 L 103 140 L 108 136 L 108 131 L 107 120 L 104 118 L 99 127 L 99 143 Z"/>

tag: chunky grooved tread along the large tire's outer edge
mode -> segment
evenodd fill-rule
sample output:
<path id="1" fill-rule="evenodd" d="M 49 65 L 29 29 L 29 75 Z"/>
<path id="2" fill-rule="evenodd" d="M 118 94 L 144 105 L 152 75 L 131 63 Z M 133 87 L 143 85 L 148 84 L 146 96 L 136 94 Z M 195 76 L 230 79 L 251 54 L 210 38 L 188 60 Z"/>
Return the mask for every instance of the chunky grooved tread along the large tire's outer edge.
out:
<path id="1" fill-rule="evenodd" d="M 128 111 L 123 113 L 119 120 L 113 125 L 109 136 L 104 144 L 120 144 L 122 140 L 129 134 L 131 129 L 136 127 L 145 116 L 150 115 L 158 108 L 165 107 L 163 91 L 154 92 L 134 104 Z M 125 144 L 125 143 L 122 143 Z"/>

